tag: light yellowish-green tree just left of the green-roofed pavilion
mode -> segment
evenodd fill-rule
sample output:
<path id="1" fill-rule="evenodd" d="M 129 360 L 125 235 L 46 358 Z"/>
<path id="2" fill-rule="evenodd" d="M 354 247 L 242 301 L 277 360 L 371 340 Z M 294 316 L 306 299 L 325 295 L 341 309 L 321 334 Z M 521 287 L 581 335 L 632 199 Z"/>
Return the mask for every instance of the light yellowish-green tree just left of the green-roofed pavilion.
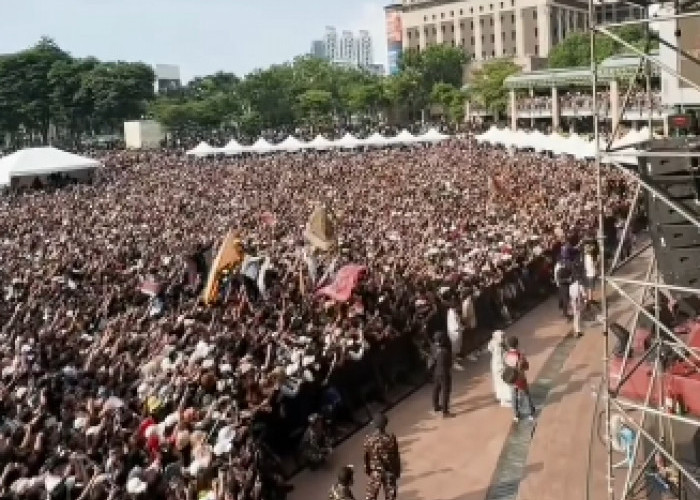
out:
<path id="1" fill-rule="evenodd" d="M 485 63 L 472 75 L 469 86 L 471 99 L 495 115 L 500 115 L 508 104 L 508 89 L 503 82 L 519 71 L 518 65 L 505 59 Z"/>

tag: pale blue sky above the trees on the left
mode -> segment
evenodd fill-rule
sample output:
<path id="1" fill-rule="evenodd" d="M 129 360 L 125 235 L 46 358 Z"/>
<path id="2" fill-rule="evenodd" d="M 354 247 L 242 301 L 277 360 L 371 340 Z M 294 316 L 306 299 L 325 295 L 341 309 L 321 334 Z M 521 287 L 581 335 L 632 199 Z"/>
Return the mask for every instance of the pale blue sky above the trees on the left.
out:
<path id="1" fill-rule="evenodd" d="M 388 0 L 0 0 L 0 54 L 42 36 L 75 57 L 239 76 L 309 52 L 326 26 L 369 30 L 386 65 Z"/>

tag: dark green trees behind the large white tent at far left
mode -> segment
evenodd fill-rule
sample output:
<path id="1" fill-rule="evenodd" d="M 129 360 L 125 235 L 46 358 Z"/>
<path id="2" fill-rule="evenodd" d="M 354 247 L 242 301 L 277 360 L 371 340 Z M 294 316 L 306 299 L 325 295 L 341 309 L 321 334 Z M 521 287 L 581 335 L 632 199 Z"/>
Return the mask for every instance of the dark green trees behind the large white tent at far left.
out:
<path id="1" fill-rule="evenodd" d="M 46 144 L 53 125 L 75 145 L 118 131 L 146 113 L 154 78 L 146 64 L 74 58 L 44 38 L 0 57 L 0 137 L 14 147 Z"/>

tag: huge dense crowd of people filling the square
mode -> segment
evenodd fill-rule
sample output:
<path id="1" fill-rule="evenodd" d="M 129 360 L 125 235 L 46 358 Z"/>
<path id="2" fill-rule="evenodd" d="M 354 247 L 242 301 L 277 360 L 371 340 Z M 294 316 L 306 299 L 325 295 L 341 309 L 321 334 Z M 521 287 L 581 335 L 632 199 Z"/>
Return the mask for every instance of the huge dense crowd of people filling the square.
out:
<path id="1" fill-rule="evenodd" d="M 102 160 L 90 184 L 0 196 L 0 498 L 283 498 L 290 429 L 352 413 L 394 362 L 429 364 L 448 303 L 468 352 L 596 226 L 592 166 L 471 139 Z M 623 212 L 624 189 L 606 203 Z M 337 243 L 312 259 L 319 204 Z M 196 257 L 231 230 L 265 272 L 231 270 L 205 305 Z M 315 293 L 351 263 L 367 272 L 348 300 Z"/>

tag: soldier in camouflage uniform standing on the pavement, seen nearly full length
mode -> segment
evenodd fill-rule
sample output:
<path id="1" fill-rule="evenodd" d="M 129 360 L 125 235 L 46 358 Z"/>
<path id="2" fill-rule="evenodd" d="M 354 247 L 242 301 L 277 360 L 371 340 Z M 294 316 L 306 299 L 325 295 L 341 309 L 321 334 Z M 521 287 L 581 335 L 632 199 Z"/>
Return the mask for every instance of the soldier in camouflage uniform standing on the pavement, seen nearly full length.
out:
<path id="1" fill-rule="evenodd" d="M 365 438 L 365 472 L 369 476 L 366 500 L 377 500 L 384 489 L 386 500 L 396 498 L 396 480 L 401 476 L 401 457 L 396 436 L 386 432 L 387 418 L 374 419 L 375 430 Z"/>

